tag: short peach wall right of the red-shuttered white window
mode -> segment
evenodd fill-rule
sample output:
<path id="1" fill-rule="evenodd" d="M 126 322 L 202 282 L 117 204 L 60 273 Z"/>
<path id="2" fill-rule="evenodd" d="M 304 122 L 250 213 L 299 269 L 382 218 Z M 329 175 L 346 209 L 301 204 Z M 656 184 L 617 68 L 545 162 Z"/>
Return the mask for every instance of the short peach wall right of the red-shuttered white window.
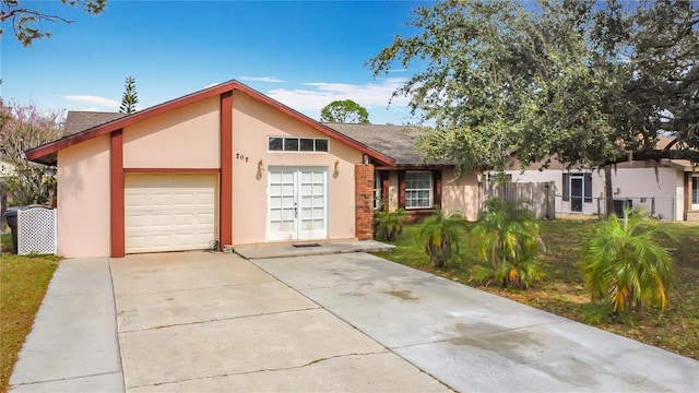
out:
<path id="1" fill-rule="evenodd" d="M 443 169 L 441 207 L 446 212 L 459 211 L 469 221 L 478 216 L 478 180 L 475 172 L 463 172 L 454 179 L 453 169 Z"/>

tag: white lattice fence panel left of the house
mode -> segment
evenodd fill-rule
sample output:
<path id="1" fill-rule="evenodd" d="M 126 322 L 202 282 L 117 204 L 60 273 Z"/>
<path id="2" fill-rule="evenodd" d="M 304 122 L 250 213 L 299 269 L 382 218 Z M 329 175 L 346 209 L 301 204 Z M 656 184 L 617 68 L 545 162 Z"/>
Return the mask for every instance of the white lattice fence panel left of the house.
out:
<path id="1" fill-rule="evenodd" d="M 57 210 L 35 207 L 17 211 L 17 254 L 58 252 Z"/>

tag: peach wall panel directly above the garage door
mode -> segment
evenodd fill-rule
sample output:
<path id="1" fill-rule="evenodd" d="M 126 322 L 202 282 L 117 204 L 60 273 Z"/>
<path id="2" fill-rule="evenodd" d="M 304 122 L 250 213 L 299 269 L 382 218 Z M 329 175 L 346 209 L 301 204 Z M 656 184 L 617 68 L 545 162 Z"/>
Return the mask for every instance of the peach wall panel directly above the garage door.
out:
<path id="1" fill-rule="evenodd" d="M 211 97 L 126 128 L 123 167 L 218 168 L 220 102 Z"/>

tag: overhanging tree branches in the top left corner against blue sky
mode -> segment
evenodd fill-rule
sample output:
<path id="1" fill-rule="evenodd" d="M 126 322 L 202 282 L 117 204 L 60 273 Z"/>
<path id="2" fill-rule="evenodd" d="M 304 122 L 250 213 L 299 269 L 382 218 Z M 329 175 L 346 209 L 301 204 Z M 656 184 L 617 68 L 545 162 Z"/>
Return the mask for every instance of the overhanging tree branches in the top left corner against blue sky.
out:
<path id="1" fill-rule="evenodd" d="M 22 3 L 22 0 L 0 0 L 0 23 L 12 21 L 14 36 L 25 47 L 32 46 L 34 39 L 51 37 L 51 33 L 44 28 L 42 22 L 73 22 L 60 15 L 46 14 L 25 8 Z M 105 10 L 107 0 L 61 0 L 61 3 L 70 7 L 80 5 L 85 12 L 97 15 Z M 3 31 L 0 29 L 0 36 L 2 33 Z"/>

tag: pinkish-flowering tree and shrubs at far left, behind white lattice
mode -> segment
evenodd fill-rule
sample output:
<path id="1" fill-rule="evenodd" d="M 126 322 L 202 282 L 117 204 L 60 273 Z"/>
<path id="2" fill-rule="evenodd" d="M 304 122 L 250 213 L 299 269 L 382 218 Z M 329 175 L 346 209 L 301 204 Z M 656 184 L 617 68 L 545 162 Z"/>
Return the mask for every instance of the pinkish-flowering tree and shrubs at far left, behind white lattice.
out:
<path id="1" fill-rule="evenodd" d="M 29 163 L 24 152 L 61 136 L 62 114 L 40 112 L 34 105 L 0 102 L 0 153 L 12 170 L 1 174 L 14 205 L 47 204 L 56 180 L 45 165 Z"/>

